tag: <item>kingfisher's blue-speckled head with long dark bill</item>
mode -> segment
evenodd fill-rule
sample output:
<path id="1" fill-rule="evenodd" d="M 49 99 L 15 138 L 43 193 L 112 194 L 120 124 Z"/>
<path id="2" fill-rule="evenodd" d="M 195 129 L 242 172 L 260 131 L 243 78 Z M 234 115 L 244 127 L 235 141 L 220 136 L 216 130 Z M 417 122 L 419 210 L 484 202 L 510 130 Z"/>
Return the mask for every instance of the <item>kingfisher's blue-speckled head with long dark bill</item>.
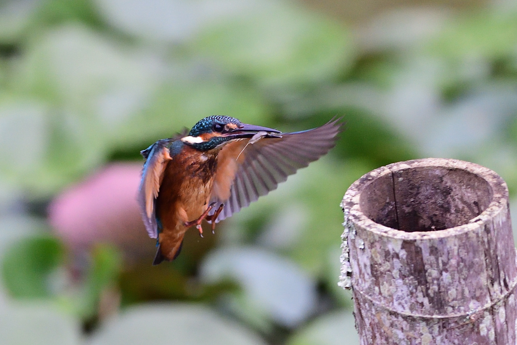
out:
<path id="1" fill-rule="evenodd" d="M 200 151 L 209 151 L 234 140 L 252 138 L 258 132 L 266 132 L 266 138 L 279 137 L 281 133 L 272 128 L 242 124 L 231 116 L 208 116 L 197 122 L 181 141 Z"/>

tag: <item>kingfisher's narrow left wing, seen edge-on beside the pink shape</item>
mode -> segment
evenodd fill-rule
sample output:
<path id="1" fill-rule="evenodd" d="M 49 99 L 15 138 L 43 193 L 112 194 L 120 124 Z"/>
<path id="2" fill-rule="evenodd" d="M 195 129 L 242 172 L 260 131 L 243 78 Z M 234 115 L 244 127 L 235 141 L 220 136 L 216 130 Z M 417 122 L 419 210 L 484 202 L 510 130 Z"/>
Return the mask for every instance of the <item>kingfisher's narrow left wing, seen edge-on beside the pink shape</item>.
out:
<path id="1" fill-rule="evenodd" d="M 149 237 L 158 237 L 158 227 L 155 215 L 155 200 L 163 179 L 163 172 L 167 163 L 171 160 L 169 148 L 167 147 L 173 140 L 158 140 L 153 145 L 141 152 L 146 158 L 142 179 L 138 191 L 138 203 L 142 212 L 142 219 Z"/>

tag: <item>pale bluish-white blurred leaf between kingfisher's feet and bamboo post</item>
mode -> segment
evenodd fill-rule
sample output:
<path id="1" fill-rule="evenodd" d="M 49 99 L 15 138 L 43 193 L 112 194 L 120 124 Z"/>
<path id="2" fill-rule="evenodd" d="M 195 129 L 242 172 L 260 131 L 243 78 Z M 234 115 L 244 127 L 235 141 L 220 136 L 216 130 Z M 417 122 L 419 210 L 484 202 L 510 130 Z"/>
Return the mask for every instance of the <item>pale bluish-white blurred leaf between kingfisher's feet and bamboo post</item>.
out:
<path id="1" fill-rule="evenodd" d="M 255 248 L 212 251 L 201 266 L 206 282 L 235 279 L 243 291 L 230 308 L 255 325 L 268 319 L 294 327 L 313 311 L 315 283 L 293 262 Z M 257 319 L 258 317 L 258 319 Z M 262 319 L 262 320 L 261 320 Z"/>

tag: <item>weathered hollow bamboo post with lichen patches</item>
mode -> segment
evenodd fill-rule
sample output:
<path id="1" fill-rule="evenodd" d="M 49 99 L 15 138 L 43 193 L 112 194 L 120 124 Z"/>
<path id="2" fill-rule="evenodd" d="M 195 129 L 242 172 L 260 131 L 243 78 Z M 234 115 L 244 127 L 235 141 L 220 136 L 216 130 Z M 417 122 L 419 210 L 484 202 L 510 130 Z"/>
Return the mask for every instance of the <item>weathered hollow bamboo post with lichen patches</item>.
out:
<path id="1" fill-rule="evenodd" d="M 340 286 L 362 345 L 515 344 L 508 188 L 452 159 L 390 164 L 346 191 Z"/>

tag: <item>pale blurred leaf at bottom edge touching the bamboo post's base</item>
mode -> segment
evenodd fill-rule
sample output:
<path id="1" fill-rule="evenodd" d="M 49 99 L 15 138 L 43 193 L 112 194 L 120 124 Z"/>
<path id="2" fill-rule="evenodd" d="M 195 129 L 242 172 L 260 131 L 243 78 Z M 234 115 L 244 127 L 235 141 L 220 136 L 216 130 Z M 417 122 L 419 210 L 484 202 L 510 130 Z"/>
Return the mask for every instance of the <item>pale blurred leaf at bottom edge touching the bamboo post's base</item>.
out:
<path id="1" fill-rule="evenodd" d="M 296 332 L 286 345 L 359 345 L 351 311 L 325 314 Z"/>

